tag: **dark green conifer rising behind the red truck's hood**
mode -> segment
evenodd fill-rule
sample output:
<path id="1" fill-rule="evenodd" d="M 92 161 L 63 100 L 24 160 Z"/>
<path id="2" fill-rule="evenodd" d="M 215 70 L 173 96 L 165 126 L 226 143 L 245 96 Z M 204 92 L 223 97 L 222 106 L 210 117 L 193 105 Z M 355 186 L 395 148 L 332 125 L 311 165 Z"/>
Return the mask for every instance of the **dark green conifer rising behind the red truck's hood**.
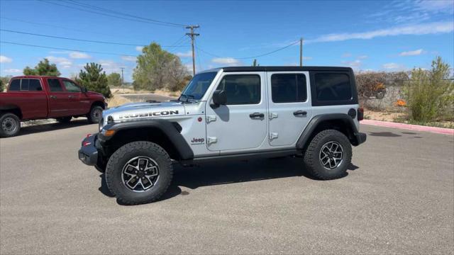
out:
<path id="1" fill-rule="evenodd" d="M 84 70 L 80 70 L 75 80 L 88 90 L 99 92 L 106 98 L 112 96 L 107 83 L 106 72 L 103 71 L 101 64 L 87 63 Z"/>

